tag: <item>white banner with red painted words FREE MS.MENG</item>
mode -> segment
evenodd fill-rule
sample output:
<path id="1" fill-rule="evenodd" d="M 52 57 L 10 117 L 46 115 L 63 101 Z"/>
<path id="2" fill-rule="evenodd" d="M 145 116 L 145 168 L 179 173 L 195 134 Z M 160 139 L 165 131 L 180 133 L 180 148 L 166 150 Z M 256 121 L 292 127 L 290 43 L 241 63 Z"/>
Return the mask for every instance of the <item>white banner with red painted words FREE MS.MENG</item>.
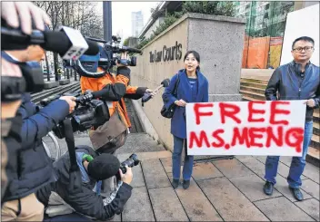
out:
<path id="1" fill-rule="evenodd" d="M 187 103 L 188 155 L 302 156 L 305 101 Z"/>

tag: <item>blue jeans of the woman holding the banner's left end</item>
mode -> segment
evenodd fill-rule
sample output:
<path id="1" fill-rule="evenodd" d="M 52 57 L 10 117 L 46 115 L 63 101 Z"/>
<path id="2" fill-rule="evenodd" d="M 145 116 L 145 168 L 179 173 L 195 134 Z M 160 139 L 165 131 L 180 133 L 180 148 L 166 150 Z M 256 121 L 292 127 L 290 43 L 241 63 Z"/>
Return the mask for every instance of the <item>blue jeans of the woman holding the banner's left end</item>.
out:
<path id="1" fill-rule="evenodd" d="M 174 154 L 172 155 L 172 172 L 174 179 L 180 179 L 181 168 L 181 153 L 184 148 L 184 140 L 174 136 Z M 194 167 L 194 156 L 186 155 L 186 140 L 185 140 L 185 164 L 183 169 L 183 178 L 190 180 L 192 169 Z"/>

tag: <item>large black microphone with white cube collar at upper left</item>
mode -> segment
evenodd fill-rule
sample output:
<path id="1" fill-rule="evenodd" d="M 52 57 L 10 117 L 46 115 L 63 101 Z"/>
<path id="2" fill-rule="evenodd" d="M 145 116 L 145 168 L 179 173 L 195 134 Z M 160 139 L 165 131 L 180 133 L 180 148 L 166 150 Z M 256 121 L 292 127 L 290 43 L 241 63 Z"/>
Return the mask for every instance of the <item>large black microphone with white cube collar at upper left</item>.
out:
<path id="1" fill-rule="evenodd" d="M 22 50 L 31 44 L 39 44 L 47 51 L 59 53 L 64 59 L 78 59 L 82 54 L 95 55 L 99 53 L 98 45 L 85 40 L 79 31 L 62 27 L 64 31 L 33 30 L 27 35 L 19 29 L 1 26 L 1 50 Z"/>

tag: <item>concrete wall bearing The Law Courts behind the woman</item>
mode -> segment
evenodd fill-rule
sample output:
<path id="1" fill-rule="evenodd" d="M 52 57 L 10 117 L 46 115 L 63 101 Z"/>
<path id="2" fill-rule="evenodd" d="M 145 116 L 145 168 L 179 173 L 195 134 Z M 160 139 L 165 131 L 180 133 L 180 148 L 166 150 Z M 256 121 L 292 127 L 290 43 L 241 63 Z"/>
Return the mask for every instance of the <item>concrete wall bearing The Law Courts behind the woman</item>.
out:
<path id="1" fill-rule="evenodd" d="M 200 53 L 200 67 L 209 82 L 210 101 L 240 101 L 240 75 L 242 52 L 244 47 L 245 20 L 225 16 L 205 14 L 185 14 L 159 34 L 143 48 L 143 55 L 137 57 L 137 66 L 131 67 L 131 84 L 155 89 L 165 78 L 171 78 L 179 69 L 184 68 L 186 51 Z M 181 45 L 180 45 L 181 44 Z M 164 61 L 164 56 L 157 63 L 150 63 L 150 52 L 164 52 L 179 45 L 180 52 L 174 53 L 173 60 Z M 175 50 L 176 51 L 176 50 Z M 144 111 L 145 129 L 150 129 L 152 136 L 162 142 L 169 150 L 173 149 L 173 137 L 170 133 L 170 120 L 161 116 L 163 106 L 161 98 L 164 90 L 155 98 L 139 107 Z M 140 106 L 140 101 L 135 102 Z M 140 115 L 142 116 L 142 115 Z M 151 123 L 151 124 L 150 124 Z M 149 132 L 149 131 L 146 131 Z M 149 133 L 150 133 L 149 132 Z"/>

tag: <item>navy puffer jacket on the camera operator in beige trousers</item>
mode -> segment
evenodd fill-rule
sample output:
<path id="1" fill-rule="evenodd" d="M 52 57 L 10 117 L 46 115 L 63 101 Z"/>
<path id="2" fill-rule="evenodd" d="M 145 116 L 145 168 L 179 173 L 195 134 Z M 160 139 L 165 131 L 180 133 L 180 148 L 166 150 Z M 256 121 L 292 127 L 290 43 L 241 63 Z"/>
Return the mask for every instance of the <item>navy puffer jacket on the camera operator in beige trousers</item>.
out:
<path id="1" fill-rule="evenodd" d="M 6 173 L 10 182 L 3 201 L 25 198 L 36 189 L 55 181 L 55 170 L 45 152 L 42 138 L 54 128 L 55 123 L 64 120 L 68 113 L 69 105 L 66 101 L 56 100 L 39 110 L 31 101 L 30 94 L 24 94 L 16 112 L 16 117 L 22 118 L 19 134 L 21 147 L 7 147 Z"/>

